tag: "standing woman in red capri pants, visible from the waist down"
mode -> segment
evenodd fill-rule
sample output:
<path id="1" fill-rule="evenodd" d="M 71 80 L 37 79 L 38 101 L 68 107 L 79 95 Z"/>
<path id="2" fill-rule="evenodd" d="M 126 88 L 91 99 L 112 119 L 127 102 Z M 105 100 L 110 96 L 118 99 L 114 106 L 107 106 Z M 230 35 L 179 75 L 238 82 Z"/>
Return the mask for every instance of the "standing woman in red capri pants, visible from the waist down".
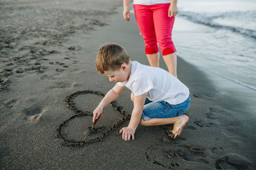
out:
<path id="1" fill-rule="evenodd" d="M 123 19 L 130 20 L 130 0 L 123 0 Z M 172 42 L 172 28 L 178 13 L 177 0 L 134 0 L 138 28 L 145 42 L 145 53 L 150 66 L 159 67 L 160 46 L 169 73 L 177 77 L 177 55 Z"/>

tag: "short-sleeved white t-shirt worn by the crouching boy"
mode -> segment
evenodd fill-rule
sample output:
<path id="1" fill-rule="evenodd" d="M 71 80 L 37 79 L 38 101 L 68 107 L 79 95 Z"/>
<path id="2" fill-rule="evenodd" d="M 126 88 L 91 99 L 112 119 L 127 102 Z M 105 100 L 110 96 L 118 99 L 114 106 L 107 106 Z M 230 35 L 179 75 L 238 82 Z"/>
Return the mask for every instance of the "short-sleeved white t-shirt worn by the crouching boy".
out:
<path id="1" fill-rule="evenodd" d="M 129 80 L 118 82 L 118 85 L 129 88 L 134 96 L 148 92 L 147 97 L 151 101 L 165 101 L 170 104 L 180 104 L 189 97 L 187 86 L 162 68 L 131 63 Z"/>

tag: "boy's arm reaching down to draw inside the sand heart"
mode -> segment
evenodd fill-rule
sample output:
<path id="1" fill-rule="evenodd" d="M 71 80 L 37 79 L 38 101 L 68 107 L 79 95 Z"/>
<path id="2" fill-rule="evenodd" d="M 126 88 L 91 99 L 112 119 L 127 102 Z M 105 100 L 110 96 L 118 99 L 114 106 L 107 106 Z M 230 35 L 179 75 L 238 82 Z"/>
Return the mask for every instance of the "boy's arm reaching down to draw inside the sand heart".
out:
<path id="1" fill-rule="evenodd" d="M 125 86 L 119 86 L 116 84 L 110 91 L 108 91 L 108 93 L 106 93 L 105 97 L 101 100 L 101 103 L 99 103 L 98 107 L 93 111 L 93 122 L 101 117 L 104 107 L 113 102 L 113 100 L 120 95 L 124 88 Z"/>

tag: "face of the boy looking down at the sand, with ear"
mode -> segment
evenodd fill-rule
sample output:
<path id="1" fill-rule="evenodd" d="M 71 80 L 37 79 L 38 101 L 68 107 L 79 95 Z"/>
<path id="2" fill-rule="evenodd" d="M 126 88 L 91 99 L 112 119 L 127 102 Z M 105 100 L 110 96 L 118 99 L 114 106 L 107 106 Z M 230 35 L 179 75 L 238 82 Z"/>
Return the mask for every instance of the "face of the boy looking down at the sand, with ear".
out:
<path id="1" fill-rule="evenodd" d="M 108 76 L 109 81 L 125 82 L 128 78 L 128 71 L 126 64 L 122 64 L 119 70 L 104 71 L 104 75 Z"/>

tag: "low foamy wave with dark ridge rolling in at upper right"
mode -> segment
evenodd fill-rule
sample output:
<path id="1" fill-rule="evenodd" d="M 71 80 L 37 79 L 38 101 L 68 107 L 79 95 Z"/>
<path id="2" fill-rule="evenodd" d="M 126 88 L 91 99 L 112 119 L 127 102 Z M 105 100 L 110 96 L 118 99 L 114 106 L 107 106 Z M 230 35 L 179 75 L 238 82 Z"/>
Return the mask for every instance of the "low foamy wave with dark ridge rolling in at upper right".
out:
<path id="1" fill-rule="evenodd" d="M 243 23 L 240 24 L 241 26 L 235 26 L 236 24 L 234 22 L 232 24 L 232 21 L 244 22 L 244 25 L 246 25 L 246 23 L 248 24 L 249 22 L 252 22 L 253 24 L 256 23 L 256 11 L 228 12 L 219 15 L 193 12 L 179 12 L 179 16 L 183 17 L 184 19 L 193 21 L 194 23 L 203 24 L 205 26 L 213 28 L 222 28 L 233 32 L 238 32 L 240 34 L 247 35 L 248 37 L 256 39 L 256 30 L 243 28 Z M 246 21 L 244 21 L 244 18 L 246 18 Z M 221 22 L 216 23 L 215 21 L 217 19 L 221 20 Z M 229 24 L 227 24 L 228 21 L 230 21 Z"/>

